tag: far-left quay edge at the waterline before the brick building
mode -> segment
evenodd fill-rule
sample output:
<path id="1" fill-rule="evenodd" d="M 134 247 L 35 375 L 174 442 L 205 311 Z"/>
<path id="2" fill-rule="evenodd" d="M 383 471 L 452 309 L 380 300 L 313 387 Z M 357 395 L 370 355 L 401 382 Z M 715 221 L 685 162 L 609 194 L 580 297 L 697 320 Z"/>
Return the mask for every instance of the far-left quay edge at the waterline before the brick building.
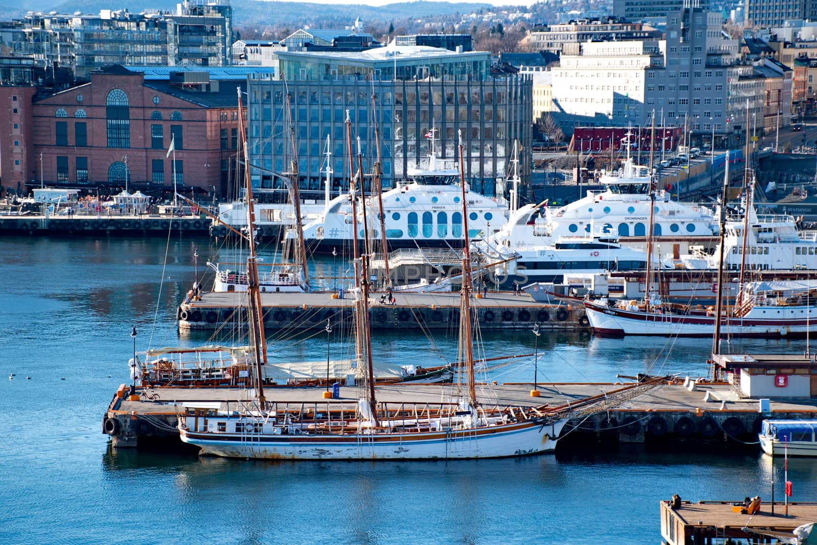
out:
<path id="1" fill-rule="evenodd" d="M 119 214 L 49 217 L 24 214 L 0 216 L 0 233 L 6 235 L 167 235 L 171 230 L 208 235 L 211 220 L 200 216 L 121 216 Z"/>

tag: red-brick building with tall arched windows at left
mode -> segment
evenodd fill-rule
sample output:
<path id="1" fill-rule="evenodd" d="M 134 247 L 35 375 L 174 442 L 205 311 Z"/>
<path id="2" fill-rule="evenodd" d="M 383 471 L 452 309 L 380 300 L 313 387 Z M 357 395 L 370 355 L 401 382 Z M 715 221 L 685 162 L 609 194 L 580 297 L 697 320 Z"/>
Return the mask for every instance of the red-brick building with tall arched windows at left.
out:
<path id="1" fill-rule="evenodd" d="M 247 74 L 114 66 L 49 96 L 0 87 L 0 104 L 10 106 L 0 108 L 0 181 L 22 193 L 42 183 L 166 194 L 175 176 L 180 191 L 230 196 L 236 87 L 245 89 Z"/>

